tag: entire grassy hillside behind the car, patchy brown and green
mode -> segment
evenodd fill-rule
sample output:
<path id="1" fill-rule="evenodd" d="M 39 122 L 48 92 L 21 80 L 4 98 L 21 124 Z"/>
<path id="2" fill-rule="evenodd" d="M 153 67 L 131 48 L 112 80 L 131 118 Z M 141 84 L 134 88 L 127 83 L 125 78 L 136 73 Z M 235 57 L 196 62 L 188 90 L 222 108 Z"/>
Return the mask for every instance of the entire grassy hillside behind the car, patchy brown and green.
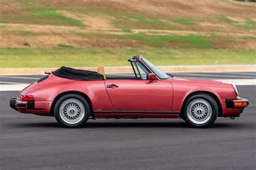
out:
<path id="1" fill-rule="evenodd" d="M 156 65 L 256 63 L 256 3 L 1 0 L 0 5 L 0 68 L 125 66 L 135 54 Z"/>

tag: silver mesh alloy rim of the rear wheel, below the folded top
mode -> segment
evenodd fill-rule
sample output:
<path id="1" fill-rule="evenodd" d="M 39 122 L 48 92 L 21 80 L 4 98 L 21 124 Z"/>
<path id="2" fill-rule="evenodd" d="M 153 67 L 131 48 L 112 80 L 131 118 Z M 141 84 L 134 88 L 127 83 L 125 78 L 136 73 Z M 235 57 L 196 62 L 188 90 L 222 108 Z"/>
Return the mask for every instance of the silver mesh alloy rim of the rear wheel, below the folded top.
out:
<path id="1" fill-rule="evenodd" d="M 60 105 L 59 113 L 64 122 L 76 124 L 84 118 L 84 104 L 76 98 L 69 98 Z"/>

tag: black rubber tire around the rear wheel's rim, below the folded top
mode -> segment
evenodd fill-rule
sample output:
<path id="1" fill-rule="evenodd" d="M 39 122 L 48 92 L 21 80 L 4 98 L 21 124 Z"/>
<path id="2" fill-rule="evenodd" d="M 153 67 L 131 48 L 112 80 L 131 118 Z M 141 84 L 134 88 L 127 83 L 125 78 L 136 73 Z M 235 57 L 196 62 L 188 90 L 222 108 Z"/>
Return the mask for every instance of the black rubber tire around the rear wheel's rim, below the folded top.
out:
<path id="1" fill-rule="evenodd" d="M 59 108 L 60 108 L 60 105 L 70 99 L 70 98 L 75 98 L 77 100 L 79 100 L 80 102 L 83 103 L 84 105 L 84 110 L 85 110 L 85 113 L 84 113 L 84 117 L 83 119 L 81 119 L 78 123 L 76 124 L 69 124 L 69 123 L 66 123 L 65 121 L 63 121 L 63 119 L 60 117 L 60 112 L 59 112 Z M 66 95 L 63 95 L 61 96 L 57 102 L 55 103 L 55 107 L 53 109 L 53 112 L 54 112 L 54 116 L 57 120 L 57 122 L 64 126 L 65 128 L 79 128 L 79 127 L 82 127 L 86 122 L 87 120 L 89 119 L 89 116 L 90 116 L 90 105 L 89 103 L 85 100 L 85 98 L 81 95 L 78 95 L 78 94 L 66 94 Z"/>

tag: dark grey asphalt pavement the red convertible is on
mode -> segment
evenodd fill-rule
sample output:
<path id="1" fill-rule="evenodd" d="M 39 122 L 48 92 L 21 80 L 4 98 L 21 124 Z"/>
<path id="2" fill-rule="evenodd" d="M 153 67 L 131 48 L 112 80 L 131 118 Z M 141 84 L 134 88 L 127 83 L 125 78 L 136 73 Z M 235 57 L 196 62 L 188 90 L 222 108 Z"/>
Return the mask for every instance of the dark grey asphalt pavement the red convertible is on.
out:
<path id="1" fill-rule="evenodd" d="M 1 77 L 10 80 L 24 81 Z M 182 119 L 96 119 L 64 129 L 54 117 L 19 114 L 9 107 L 19 91 L 0 91 L 0 169 L 255 169 L 256 86 L 237 88 L 250 105 L 210 129 Z"/>

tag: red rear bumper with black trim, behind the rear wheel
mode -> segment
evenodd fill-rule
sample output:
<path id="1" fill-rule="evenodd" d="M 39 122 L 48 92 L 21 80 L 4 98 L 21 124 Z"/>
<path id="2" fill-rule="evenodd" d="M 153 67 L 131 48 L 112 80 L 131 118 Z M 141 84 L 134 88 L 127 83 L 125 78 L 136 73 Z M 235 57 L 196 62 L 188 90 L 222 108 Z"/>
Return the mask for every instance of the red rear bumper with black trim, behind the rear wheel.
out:
<path id="1" fill-rule="evenodd" d="M 19 97 L 12 97 L 10 107 L 24 114 L 49 115 L 51 101 L 21 101 Z"/>

